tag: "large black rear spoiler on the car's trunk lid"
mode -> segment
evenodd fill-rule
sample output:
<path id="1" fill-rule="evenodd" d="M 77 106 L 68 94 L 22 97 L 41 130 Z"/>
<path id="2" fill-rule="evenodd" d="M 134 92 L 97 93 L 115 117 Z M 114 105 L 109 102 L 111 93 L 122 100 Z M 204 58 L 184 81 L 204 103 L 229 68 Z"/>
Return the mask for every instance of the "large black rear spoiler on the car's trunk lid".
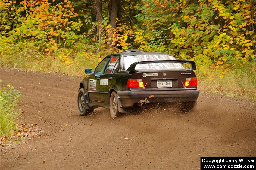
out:
<path id="1" fill-rule="evenodd" d="M 126 70 L 128 72 L 136 72 L 135 67 L 137 64 L 149 64 L 149 63 L 189 63 L 191 64 L 190 69 L 186 69 L 187 71 L 196 70 L 195 62 L 191 60 L 154 60 L 154 61 L 139 61 L 130 65 L 130 67 Z"/>

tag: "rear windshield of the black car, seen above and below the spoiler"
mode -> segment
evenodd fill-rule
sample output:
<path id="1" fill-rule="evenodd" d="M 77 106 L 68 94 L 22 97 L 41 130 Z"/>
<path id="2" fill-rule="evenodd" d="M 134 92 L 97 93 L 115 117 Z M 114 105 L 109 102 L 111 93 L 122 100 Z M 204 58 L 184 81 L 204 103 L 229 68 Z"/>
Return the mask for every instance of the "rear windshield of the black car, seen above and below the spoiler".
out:
<path id="1" fill-rule="evenodd" d="M 131 55 L 124 57 L 125 70 L 131 64 L 139 61 L 154 61 L 154 60 L 176 60 L 171 55 Z M 135 70 L 170 70 L 170 69 L 185 69 L 180 63 L 151 63 L 151 64 L 137 64 Z"/>

